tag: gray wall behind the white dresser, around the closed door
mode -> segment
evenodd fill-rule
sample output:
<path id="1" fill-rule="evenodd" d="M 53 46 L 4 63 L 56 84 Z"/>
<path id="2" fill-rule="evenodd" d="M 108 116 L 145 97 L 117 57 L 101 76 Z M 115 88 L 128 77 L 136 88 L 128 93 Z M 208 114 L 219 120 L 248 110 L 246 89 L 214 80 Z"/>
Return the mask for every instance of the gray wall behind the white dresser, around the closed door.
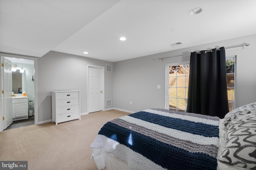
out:
<path id="1" fill-rule="evenodd" d="M 38 58 L 38 122 L 52 119 L 52 94 L 57 90 L 81 90 L 81 113 L 87 113 L 87 65 L 113 63 L 50 51 Z M 106 69 L 105 69 L 106 70 Z M 105 100 L 113 101 L 113 72 L 105 71 Z"/>

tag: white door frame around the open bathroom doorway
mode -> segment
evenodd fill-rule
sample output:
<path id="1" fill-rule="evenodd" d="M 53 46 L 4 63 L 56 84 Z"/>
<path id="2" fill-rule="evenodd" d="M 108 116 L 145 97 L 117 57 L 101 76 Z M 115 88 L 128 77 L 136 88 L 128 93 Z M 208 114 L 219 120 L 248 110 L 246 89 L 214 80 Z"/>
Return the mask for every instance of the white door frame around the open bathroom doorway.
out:
<path id="1" fill-rule="evenodd" d="M 0 57 L 1 57 L 1 65 L 3 62 L 3 57 L 11 57 L 11 58 L 17 58 L 17 59 L 27 59 L 27 60 L 34 60 L 34 112 L 35 112 L 35 117 L 34 117 L 34 121 L 35 121 L 35 125 L 38 125 L 38 81 L 37 81 L 37 58 L 36 57 L 28 57 L 28 56 L 21 56 L 21 55 L 12 55 L 12 54 L 6 54 L 6 53 L 0 53 Z M 3 89 L 3 77 L 2 77 L 2 67 L 0 69 L 0 81 L 1 81 L 1 91 Z M 2 92 L 1 92 L 2 95 Z M 3 100 L 2 100 L 2 96 L 0 98 L 0 132 L 3 131 L 3 120 L 2 120 L 2 116 L 3 116 L 3 110 L 2 110 L 2 106 L 3 106 Z"/>

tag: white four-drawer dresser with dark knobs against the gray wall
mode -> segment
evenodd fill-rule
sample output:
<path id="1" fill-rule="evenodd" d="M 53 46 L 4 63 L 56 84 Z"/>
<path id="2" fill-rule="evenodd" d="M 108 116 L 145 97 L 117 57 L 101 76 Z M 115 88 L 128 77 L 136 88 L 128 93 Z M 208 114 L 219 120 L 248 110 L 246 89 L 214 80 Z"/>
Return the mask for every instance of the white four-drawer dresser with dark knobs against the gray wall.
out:
<path id="1" fill-rule="evenodd" d="M 80 91 L 53 91 L 52 92 L 52 122 L 80 119 Z"/>

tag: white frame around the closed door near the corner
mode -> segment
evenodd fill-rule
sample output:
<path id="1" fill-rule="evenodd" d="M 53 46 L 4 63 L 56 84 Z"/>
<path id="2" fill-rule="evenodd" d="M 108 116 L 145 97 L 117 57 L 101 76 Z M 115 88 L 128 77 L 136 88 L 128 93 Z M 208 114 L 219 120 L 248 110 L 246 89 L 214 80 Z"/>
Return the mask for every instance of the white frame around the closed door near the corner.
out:
<path id="1" fill-rule="evenodd" d="M 105 111 L 105 67 L 96 65 L 87 65 L 87 114 L 89 114 L 89 68 L 100 68 L 102 70 L 101 80 L 102 80 L 102 111 Z"/>

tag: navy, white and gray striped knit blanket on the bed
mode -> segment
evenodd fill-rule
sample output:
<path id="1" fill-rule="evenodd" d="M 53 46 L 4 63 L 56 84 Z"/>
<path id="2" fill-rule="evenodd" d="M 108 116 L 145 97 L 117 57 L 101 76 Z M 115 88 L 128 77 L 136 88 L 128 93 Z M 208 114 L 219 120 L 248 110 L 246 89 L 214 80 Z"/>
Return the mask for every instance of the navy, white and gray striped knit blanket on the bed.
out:
<path id="1" fill-rule="evenodd" d="M 114 119 L 91 148 L 102 148 L 132 170 L 216 170 L 219 118 L 147 109 Z"/>

